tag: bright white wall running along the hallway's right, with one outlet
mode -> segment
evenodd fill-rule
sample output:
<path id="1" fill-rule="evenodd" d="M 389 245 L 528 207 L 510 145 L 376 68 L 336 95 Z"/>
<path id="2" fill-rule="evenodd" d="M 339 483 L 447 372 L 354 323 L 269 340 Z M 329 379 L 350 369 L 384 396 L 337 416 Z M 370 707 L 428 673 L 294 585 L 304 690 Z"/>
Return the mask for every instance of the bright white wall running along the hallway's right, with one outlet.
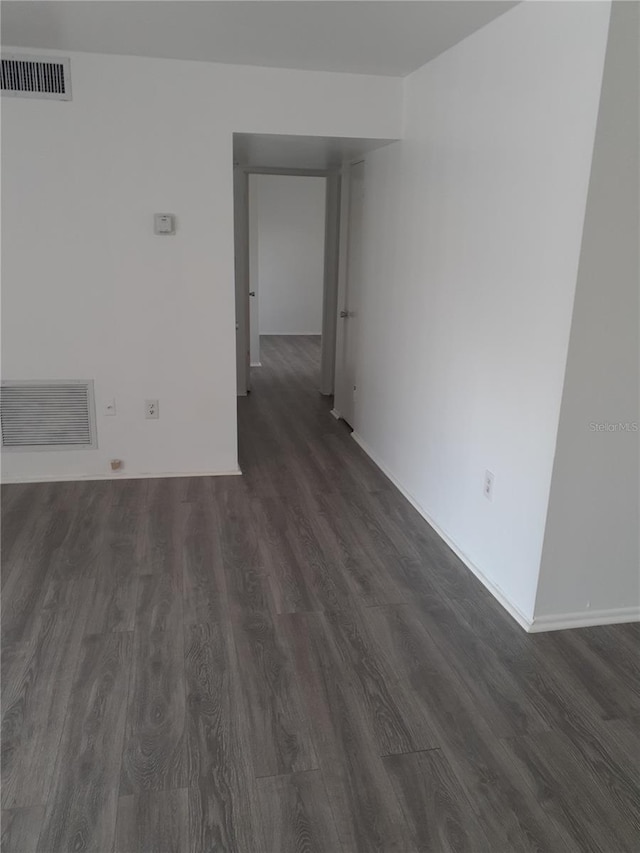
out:
<path id="1" fill-rule="evenodd" d="M 404 141 L 366 158 L 356 433 L 525 624 L 608 19 L 516 6 L 406 79 Z"/>

